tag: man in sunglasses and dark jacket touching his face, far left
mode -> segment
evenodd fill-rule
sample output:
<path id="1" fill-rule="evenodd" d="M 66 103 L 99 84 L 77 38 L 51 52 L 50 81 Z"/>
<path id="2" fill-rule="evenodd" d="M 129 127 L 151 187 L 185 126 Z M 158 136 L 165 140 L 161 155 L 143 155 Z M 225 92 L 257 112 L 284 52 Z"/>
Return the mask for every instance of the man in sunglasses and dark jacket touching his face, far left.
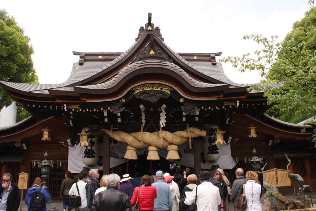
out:
<path id="1" fill-rule="evenodd" d="M 17 211 L 20 206 L 20 189 L 11 183 L 12 175 L 3 174 L 2 183 L 0 183 L 0 211 Z"/>

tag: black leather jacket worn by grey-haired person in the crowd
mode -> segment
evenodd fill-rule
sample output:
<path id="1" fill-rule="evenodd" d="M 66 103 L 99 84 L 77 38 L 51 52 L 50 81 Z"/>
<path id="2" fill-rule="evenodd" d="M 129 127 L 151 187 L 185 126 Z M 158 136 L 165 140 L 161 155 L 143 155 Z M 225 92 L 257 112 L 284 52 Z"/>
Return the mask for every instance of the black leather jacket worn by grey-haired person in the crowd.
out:
<path id="1" fill-rule="evenodd" d="M 119 191 L 116 186 L 108 186 L 106 190 L 95 195 L 91 211 L 115 210 L 131 211 L 130 197 Z"/>

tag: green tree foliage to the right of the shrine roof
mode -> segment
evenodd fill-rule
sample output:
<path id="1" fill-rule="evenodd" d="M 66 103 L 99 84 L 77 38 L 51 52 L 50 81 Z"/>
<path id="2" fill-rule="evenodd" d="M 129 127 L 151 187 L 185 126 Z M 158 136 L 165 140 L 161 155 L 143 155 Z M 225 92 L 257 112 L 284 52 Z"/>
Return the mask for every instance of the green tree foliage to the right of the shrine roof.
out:
<path id="1" fill-rule="evenodd" d="M 307 36 L 316 37 L 314 30 Z M 289 47 L 294 39 L 287 42 L 287 47 L 276 43 L 274 36 L 271 39 L 262 35 L 252 34 L 244 39 L 252 39 L 263 45 L 263 49 L 255 51 L 257 59 L 249 58 L 249 53 L 242 57 L 227 57 L 221 62 L 231 62 L 239 71 L 257 70 L 261 76 L 277 81 L 275 85 L 259 83 L 248 91 L 262 90 L 267 97 L 268 104 L 287 102 L 289 110 L 295 109 L 295 119 L 308 118 L 316 114 L 316 51 L 307 49 L 306 42 Z M 315 129 L 316 132 L 316 129 Z"/>

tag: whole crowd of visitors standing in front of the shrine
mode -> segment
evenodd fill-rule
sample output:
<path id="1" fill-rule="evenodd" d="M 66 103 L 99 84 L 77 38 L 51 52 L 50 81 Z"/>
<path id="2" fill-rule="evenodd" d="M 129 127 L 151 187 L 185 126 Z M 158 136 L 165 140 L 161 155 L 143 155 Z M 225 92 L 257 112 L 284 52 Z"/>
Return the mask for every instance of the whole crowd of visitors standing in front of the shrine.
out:
<path id="1" fill-rule="evenodd" d="M 63 198 L 63 211 L 68 206 L 70 195 L 81 197 L 81 205 L 74 208 L 76 211 L 100 211 L 117 210 L 131 211 L 132 206 L 138 203 L 139 210 L 149 211 L 230 211 L 228 196 L 237 208 L 240 195 L 245 192 L 246 211 L 262 211 L 260 197 L 261 185 L 258 183 L 258 175 L 253 171 L 246 172 L 238 168 L 235 171 L 236 179 L 231 188 L 228 178 L 222 169 L 213 171 L 201 171 L 197 177 L 190 174 L 189 169 L 177 172 L 171 176 L 167 172 L 157 171 L 155 175 L 140 176 L 135 172 L 135 178 L 129 174 L 121 178 L 117 174 L 103 175 L 99 182 L 99 172 L 91 169 L 89 179 L 87 174 L 81 173 L 78 182 L 74 183 L 70 171 L 65 172 L 60 196 Z M 3 175 L 0 184 L 0 211 L 17 211 L 20 204 L 19 188 L 11 183 L 12 175 Z M 197 181 L 199 184 L 197 185 Z M 31 188 L 27 190 L 25 203 L 31 211 L 30 201 L 34 192 L 39 190 L 42 180 L 37 177 Z M 45 189 L 39 190 L 46 202 L 49 195 Z M 46 211 L 46 208 L 43 209 Z M 71 207 L 68 206 L 71 211 Z"/>

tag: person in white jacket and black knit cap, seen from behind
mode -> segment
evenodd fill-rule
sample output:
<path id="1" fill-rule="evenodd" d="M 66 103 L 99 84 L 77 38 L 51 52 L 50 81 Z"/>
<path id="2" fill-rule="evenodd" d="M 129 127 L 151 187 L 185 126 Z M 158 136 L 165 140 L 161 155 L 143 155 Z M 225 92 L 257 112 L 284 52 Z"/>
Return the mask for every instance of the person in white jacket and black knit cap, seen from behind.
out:
<path id="1" fill-rule="evenodd" d="M 201 171 L 197 178 L 201 184 L 194 187 L 190 196 L 185 198 L 184 203 L 191 205 L 195 202 L 197 192 L 197 210 L 198 211 L 217 211 L 217 205 L 221 204 L 219 189 L 210 182 L 210 173 Z"/>

